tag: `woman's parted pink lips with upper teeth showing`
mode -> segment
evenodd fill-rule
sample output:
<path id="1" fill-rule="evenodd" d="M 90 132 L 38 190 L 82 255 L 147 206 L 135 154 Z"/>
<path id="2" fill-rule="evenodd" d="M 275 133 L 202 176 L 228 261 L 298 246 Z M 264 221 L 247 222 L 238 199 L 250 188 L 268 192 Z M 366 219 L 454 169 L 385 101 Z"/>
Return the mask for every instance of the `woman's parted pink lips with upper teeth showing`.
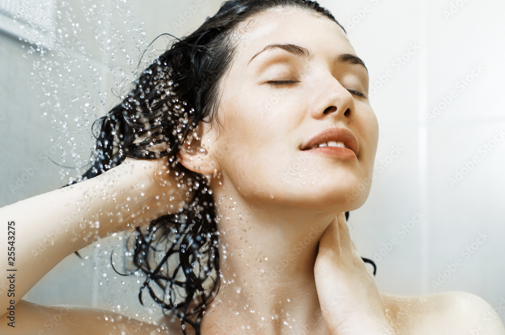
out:
<path id="1" fill-rule="evenodd" d="M 344 147 L 358 155 L 358 140 L 351 131 L 345 128 L 329 128 L 314 136 L 301 145 L 301 150 L 311 150 L 322 147 Z"/>

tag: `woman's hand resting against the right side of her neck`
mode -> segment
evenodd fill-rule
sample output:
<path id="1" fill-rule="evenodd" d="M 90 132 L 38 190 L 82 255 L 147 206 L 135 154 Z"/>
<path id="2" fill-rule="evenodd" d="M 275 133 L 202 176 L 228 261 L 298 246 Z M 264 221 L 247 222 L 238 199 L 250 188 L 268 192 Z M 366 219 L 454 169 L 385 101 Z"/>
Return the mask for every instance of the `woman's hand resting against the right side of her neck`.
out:
<path id="1" fill-rule="evenodd" d="M 393 335 L 373 273 L 351 241 L 344 213 L 319 241 L 314 266 L 323 318 L 332 335 Z"/>

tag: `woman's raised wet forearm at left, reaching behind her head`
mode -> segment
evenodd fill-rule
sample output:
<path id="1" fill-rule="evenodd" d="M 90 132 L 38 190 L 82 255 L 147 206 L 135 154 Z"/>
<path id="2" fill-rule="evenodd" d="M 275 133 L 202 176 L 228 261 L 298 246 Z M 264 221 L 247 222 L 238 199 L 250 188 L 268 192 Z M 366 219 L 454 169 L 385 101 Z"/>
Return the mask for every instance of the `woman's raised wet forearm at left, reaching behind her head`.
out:
<path id="1" fill-rule="evenodd" d="M 147 191 L 150 176 L 143 175 L 145 178 L 134 177 L 120 165 L 104 175 L 1 208 L 0 269 L 4 274 L 0 309 L 6 311 L 10 300 L 18 302 L 69 254 L 113 231 L 127 229 L 126 222 L 133 227 L 148 221 L 150 213 L 143 207 L 145 197 L 151 196 Z M 8 222 L 15 222 L 14 229 Z M 9 229 L 11 236 L 15 234 L 11 245 Z M 12 245 L 15 258 L 9 265 L 8 247 Z M 8 296 L 8 278 L 13 275 L 15 295 Z"/>

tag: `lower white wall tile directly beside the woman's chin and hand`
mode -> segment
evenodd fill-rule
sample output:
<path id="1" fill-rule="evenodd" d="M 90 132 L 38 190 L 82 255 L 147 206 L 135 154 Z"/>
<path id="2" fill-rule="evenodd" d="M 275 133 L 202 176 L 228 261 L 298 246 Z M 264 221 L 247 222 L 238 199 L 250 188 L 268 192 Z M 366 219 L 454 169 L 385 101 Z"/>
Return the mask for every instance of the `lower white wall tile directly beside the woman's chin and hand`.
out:
<path id="1" fill-rule="evenodd" d="M 376 261 L 381 291 L 421 293 L 423 223 L 409 222 L 416 212 L 426 215 L 419 196 L 418 165 L 416 128 L 381 129 L 370 196 L 350 213 L 351 237 L 362 257 Z"/>

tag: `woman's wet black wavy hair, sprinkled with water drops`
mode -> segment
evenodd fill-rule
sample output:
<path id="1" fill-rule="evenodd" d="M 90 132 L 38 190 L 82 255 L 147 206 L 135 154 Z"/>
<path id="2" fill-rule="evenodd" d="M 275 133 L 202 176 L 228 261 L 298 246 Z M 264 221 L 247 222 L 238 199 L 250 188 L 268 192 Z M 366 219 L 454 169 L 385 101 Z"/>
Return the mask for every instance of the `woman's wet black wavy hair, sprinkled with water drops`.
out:
<path id="1" fill-rule="evenodd" d="M 219 251 L 212 190 L 203 176 L 177 161 L 176 153 L 200 122 L 215 117 L 218 84 L 239 45 L 239 25 L 276 7 L 307 10 L 345 31 L 328 10 L 313 1 L 227 1 L 216 15 L 177 39 L 143 70 L 123 101 L 93 125 L 94 160 L 82 179 L 100 175 L 126 157 L 164 157 L 172 171 L 191 180 L 193 196 L 181 211 L 137 228 L 128 240 L 130 261 L 145 274 L 140 302 L 147 290 L 165 313 L 180 318 L 184 334 L 187 325 L 200 333 L 205 308 L 219 290 Z M 166 143 L 167 150 L 152 150 L 159 143 Z"/>

